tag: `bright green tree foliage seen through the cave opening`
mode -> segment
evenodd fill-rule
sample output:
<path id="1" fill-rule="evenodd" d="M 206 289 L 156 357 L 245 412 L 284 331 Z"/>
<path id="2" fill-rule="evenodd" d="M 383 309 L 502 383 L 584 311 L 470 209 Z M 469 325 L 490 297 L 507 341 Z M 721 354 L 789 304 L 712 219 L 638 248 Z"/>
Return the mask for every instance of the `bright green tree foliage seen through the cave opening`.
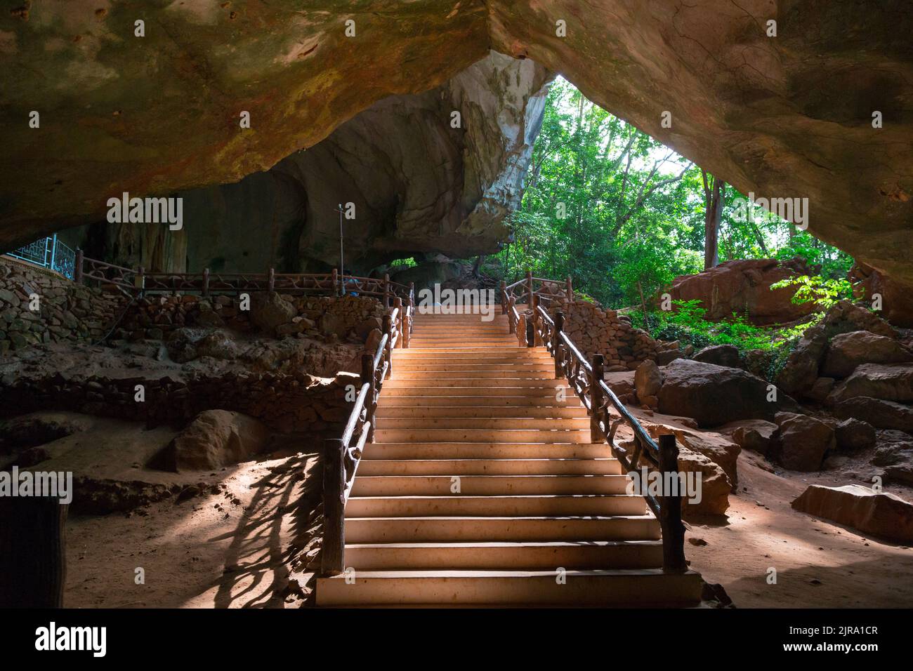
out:
<path id="1" fill-rule="evenodd" d="M 744 202 L 727 185 L 721 262 L 798 256 L 820 266 L 824 280 L 845 276 L 851 257 L 775 215 L 740 215 Z M 546 99 L 522 204 L 507 222 L 509 243 L 498 253 L 501 278 L 512 282 L 528 269 L 542 278 L 570 276 L 575 289 L 604 305 L 642 309 L 642 295 L 649 304 L 676 276 L 703 269 L 704 214 L 698 166 L 559 78 Z"/>

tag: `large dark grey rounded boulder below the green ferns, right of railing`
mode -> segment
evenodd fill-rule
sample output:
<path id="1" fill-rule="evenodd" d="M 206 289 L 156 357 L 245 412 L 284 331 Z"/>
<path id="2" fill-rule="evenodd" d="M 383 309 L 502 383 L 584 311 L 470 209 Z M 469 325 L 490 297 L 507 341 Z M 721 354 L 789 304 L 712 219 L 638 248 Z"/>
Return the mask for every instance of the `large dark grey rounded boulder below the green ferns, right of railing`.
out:
<path id="1" fill-rule="evenodd" d="M 663 369 L 663 376 L 659 412 L 693 417 L 702 427 L 737 419 L 771 420 L 795 406 L 784 393 L 769 401 L 769 383 L 736 368 L 677 359 Z"/>

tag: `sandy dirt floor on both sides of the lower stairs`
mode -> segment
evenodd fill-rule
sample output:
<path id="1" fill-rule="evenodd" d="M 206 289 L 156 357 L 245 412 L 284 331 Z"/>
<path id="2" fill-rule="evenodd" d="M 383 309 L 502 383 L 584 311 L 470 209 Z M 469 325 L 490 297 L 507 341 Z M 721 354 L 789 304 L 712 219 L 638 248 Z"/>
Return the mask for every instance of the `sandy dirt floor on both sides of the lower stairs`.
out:
<path id="1" fill-rule="evenodd" d="M 315 455 L 250 462 L 206 478 L 215 493 L 70 519 L 68 607 L 309 605 L 319 470 Z M 913 606 L 913 550 L 790 507 L 808 484 L 844 478 L 781 477 L 751 453 L 740 456 L 739 471 L 728 519 L 691 523 L 686 536 L 691 567 L 721 583 L 737 606 Z"/>

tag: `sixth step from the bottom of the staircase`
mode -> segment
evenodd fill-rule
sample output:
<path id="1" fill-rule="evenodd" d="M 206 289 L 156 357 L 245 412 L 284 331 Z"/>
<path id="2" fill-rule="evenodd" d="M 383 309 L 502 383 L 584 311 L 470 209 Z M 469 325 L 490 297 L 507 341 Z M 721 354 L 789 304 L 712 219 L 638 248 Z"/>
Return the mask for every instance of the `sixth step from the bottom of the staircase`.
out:
<path id="1" fill-rule="evenodd" d="M 362 456 L 358 475 L 365 476 L 585 476 L 621 475 L 621 463 L 601 459 L 368 459 Z"/>

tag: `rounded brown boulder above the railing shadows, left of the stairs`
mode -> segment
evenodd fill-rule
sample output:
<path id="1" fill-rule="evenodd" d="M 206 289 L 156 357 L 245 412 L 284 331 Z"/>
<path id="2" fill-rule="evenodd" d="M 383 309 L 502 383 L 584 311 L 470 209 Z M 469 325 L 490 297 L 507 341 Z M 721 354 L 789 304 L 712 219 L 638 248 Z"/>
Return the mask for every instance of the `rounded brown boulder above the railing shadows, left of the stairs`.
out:
<path id="1" fill-rule="evenodd" d="M 164 463 L 179 473 L 216 470 L 257 455 L 268 441 L 268 428 L 247 414 L 205 410 L 174 437 Z"/>

